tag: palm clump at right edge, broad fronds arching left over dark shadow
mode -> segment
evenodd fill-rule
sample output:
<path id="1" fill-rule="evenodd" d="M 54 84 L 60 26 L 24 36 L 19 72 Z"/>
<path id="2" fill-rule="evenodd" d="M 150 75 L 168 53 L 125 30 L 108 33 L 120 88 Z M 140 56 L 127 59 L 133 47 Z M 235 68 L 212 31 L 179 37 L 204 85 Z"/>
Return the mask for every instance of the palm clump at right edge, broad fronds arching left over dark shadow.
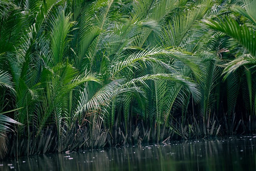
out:
<path id="1" fill-rule="evenodd" d="M 255 81 L 253 79 L 256 61 L 255 7 L 256 1 L 246 0 L 243 1 L 242 6 L 231 6 L 229 15 L 219 15 L 216 19 L 205 21 L 210 28 L 220 31 L 231 38 L 227 46 L 235 54 L 234 58 L 225 64 L 223 72 L 224 80 L 227 81 L 230 87 L 227 94 L 230 108 L 229 115 L 234 113 L 237 105 L 241 103 L 242 105 L 239 105 L 239 108 L 244 108 L 245 110 L 241 112 L 245 112 L 246 115 L 249 114 L 249 118 L 247 118 L 249 123 L 251 116 L 255 115 L 256 104 Z M 242 90 L 242 100 L 238 99 L 239 89 Z M 251 129 L 250 124 L 247 127 Z"/>

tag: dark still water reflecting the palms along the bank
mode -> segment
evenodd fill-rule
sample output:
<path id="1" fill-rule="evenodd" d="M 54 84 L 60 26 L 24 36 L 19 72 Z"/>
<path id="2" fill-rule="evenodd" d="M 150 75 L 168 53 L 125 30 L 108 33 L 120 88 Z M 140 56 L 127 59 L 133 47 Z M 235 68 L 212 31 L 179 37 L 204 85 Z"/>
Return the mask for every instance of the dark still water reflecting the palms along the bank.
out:
<path id="1" fill-rule="evenodd" d="M 0 161 L 0 170 L 256 170 L 256 136 L 85 150 Z"/>

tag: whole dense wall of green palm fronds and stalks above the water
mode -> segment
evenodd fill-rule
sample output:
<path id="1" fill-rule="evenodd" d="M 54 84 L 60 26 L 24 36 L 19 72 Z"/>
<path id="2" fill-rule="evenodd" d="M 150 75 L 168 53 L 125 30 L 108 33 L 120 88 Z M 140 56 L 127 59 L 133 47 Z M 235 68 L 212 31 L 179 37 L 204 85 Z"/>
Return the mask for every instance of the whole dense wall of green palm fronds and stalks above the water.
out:
<path id="1" fill-rule="evenodd" d="M 255 9 L 1 0 L 0 155 L 255 132 Z"/>

